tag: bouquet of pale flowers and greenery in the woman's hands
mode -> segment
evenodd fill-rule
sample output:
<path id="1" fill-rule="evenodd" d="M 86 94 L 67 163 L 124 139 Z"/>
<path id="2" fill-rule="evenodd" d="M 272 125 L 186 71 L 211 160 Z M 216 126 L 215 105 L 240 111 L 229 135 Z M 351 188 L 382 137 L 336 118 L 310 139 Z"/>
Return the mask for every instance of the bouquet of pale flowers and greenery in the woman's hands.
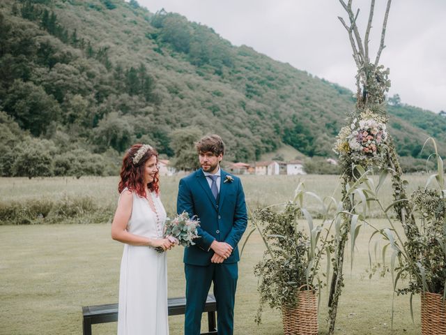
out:
<path id="1" fill-rule="evenodd" d="M 197 239 L 197 227 L 200 221 L 197 216 L 189 217 L 187 212 L 175 216 L 174 218 L 167 218 L 164 225 L 164 238 L 169 241 L 179 244 L 181 246 L 193 246 L 193 239 Z M 162 248 L 157 248 L 157 251 L 162 252 Z"/>

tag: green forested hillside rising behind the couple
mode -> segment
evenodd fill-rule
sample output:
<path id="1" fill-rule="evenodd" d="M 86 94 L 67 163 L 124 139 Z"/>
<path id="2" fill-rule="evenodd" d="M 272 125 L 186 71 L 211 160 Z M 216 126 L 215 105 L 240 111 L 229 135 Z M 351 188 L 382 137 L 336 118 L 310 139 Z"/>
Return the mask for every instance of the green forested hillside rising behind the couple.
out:
<path id="1" fill-rule="evenodd" d="M 2 175 L 31 160 L 36 174 L 116 173 L 134 142 L 173 156 L 209 132 L 230 161 L 282 143 L 334 156 L 354 106 L 348 89 L 137 1 L 2 0 L 0 42 Z M 390 114 L 403 156 L 420 155 L 427 135 L 446 140 L 444 117 L 401 103 Z"/>

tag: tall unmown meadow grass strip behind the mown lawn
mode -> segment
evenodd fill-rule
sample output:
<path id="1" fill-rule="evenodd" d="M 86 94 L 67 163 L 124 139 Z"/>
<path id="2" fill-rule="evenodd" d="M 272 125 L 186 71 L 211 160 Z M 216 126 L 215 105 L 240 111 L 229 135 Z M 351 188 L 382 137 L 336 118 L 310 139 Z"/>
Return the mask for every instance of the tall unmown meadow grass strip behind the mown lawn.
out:
<path id="1" fill-rule="evenodd" d="M 408 194 L 424 186 L 426 174 L 406 176 Z M 161 197 L 167 214 L 176 212 L 176 194 L 181 176 L 162 177 Z M 321 198 L 341 195 L 339 176 L 307 174 L 302 176 L 241 176 L 246 202 L 250 209 L 280 204 L 293 198 L 300 182 L 307 191 Z M 374 177 L 376 182 L 378 177 Z M 2 178 L 0 177 L 0 225 L 38 223 L 107 223 L 111 222 L 118 200 L 118 177 L 51 177 Z M 392 202 L 392 188 L 387 180 L 380 189 L 380 200 Z M 310 200 L 308 207 L 317 207 Z M 376 204 L 371 204 L 369 215 L 382 216 Z"/>

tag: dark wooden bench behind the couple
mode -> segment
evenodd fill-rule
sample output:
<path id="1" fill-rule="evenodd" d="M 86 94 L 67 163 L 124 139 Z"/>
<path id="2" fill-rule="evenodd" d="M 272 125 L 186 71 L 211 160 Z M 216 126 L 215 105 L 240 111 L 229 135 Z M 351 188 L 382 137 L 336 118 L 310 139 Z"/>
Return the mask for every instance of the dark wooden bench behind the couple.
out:
<path id="1" fill-rule="evenodd" d="M 186 309 L 186 298 L 169 298 L 167 301 L 167 308 L 169 315 L 184 314 Z M 217 334 L 215 322 L 216 311 L 217 302 L 215 301 L 215 297 L 213 295 L 208 295 L 203 312 L 208 312 L 209 332 L 201 333 L 201 335 Z M 118 321 L 118 304 L 84 306 L 82 307 L 82 314 L 84 315 L 84 321 L 82 323 L 84 335 L 91 335 L 91 325 Z"/>

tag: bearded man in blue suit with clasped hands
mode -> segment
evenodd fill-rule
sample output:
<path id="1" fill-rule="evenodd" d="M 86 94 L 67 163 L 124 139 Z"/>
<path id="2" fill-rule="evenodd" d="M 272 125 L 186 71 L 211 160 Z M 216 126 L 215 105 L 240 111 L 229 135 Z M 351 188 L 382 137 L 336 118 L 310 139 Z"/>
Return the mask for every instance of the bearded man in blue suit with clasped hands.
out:
<path id="1" fill-rule="evenodd" d="M 196 144 L 201 169 L 180 180 L 178 214 L 187 211 L 200 220 L 199 238 L 185 248 L 185 335 L 199 335 L 201 314 L 210 284 L 217 300 L 219 335 L 233 334 L 238 278 L 238 241 L 247 226 L 245 193 L 238 177 L 220 169 L 224 143 L 218 135 Z"/>

